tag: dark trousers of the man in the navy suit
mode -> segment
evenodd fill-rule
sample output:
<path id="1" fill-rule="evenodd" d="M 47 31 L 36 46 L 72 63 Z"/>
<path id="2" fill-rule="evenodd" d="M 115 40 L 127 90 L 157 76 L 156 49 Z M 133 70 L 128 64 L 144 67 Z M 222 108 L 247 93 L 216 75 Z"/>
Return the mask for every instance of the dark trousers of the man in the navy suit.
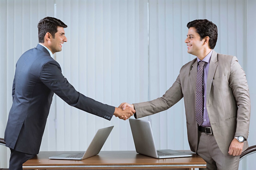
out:
<path id="1" fill-rule="evenodd" d="M 22 164 L 36 155 L 19 152 L 11 149 L 9 170 L 22 170 Z"/>

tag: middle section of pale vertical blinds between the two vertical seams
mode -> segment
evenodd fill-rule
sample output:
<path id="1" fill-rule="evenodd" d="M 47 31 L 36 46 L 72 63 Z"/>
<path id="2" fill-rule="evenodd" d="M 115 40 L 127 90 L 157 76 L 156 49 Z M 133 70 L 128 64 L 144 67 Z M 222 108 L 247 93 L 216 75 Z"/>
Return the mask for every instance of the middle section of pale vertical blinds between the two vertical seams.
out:
<path id="1" fill-rule="evenodd" d="M 125 101 L 138 102 L 140 95 L 147 100 L 147 82 L 143 79 L 148 77 L 148 69 L 140 75 L 136 71 L 143 62 L 140 56 L 148 58 L 148 47 L 140 48 L 148 42 L 147 12 L 143 12 L 147 11 L 147 1 L 60 0 L 56 4 L 56 17 L 68 25 L 68 42 L 56 54 L 56 60 L 75 89 L 116 107 Z M 137 86 L 140 84 L 143 86 Z M 103 150 L 127 150 L 132 146 L 128 121 L 116 117 L 106 121 L 68 106 L 59 97 L 55 103 L 48 120 L 56 122 L 56 132 L 49 123 L 45 132 L 54 136 L 53 150 L 86 150 L 97 129 L 111 125 L 115 128 Z M 42 147 L 48 148 L 51 143 L 45 140 Z"/>

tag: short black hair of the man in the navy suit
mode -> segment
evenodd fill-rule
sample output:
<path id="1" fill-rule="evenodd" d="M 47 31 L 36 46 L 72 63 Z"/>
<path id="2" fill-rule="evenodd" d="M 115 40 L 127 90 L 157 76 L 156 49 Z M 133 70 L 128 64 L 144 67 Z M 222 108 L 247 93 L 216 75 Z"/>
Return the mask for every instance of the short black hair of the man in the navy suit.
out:
<path id="1" fill-rule="evenodd" d="M 55 38 L 55 33 L 58 32 L 58 27 L 67 28 L 61 20 L 53 17 L 45 17 L 40 20 L 37 24 L 38 27 L 38 41 L 39 43 L 45 42 L 45 34 L 50 33 Z"/>

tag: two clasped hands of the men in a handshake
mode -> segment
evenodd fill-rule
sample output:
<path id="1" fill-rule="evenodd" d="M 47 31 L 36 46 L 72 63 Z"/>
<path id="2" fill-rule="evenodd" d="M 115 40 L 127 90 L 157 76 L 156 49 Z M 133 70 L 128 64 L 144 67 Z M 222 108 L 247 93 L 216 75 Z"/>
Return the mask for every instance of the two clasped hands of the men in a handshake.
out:
<path id="1" fill-rule="evenodd" d="M 129 119 L 133 114 L 135 114 L 135 108 L 133 104 L 121 103 L 120 106 L 115 108 L 114 115 L 119 117 L 119 119 Z"/>

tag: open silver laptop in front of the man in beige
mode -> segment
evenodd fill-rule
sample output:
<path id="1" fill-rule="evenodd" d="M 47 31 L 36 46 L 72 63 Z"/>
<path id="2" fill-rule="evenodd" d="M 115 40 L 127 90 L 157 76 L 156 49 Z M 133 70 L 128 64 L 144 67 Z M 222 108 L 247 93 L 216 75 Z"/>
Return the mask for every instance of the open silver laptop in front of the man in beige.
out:
<path id="1" fill-rule="evenodd" d="M 193 152 L 157 150 L 151 124 L 146 120 L 129 119 L 136 152 L 153 158 L 178 158 L 192 156 Z"/>

